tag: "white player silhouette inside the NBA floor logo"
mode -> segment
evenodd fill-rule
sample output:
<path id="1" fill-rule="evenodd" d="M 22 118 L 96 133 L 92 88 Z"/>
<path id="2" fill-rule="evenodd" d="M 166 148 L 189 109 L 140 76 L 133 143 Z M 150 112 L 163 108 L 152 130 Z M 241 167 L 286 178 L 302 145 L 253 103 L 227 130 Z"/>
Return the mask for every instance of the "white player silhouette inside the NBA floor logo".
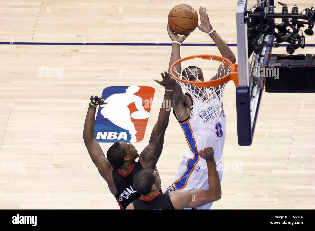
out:
<path id="1" fill-rule="evenodd" d="M 126 93 L 113 94 L 105 99 L 107 104 L 100 105 L 100 107 L 103 107 L 100 113 L 104 118 L 107 118 L 118 127 L 129 131 L 131 135 L 130 143 L 137 141 L 137 131 L 135 130 L 135 124 L 131 121 L 131 117 L 134 119 L 146 119 L 150 115 L 142 106 L 142 98 L 134 95 L 139 90 L 140 87 L 138 86 L 130 86 L 126 89 Z M 127 106 L 133 102 L 138 111 L 130 115 L 130 110 Z"/>

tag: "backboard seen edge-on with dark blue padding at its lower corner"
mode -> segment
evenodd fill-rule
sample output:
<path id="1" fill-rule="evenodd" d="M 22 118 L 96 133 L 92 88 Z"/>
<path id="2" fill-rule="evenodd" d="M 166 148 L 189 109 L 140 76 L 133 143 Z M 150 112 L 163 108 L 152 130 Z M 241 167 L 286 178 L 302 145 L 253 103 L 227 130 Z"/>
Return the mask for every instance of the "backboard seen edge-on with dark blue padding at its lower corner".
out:
<path id="1" fill-rule="evenodd" d="M 269 7 L 273 0 L 257 1 L 257 4 Z M 247 0 L 239 0 L 236 8 L 237 48 L 238 48 L 238 87 L 236 88 L 236 112 L 238 144 L 251 145 L 257 121 L 261 96 L 264 89 L 264 77 L 254 77 L 253 68 L 264 68 L 268 64 L 268 53 L 272 47 L 264 47 L 259 54 L 253 52 L 248 43 L 248 29 L 245 19 Z M 263 41 L 273 43 L 274 36 L 262 35 L 258 44 Z"/>

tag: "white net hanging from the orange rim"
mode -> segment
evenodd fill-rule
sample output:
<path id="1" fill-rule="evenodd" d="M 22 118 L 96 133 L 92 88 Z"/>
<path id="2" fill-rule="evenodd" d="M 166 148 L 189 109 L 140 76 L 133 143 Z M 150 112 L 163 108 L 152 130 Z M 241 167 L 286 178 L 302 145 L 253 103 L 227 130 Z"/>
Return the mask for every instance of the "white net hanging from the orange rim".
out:
<path id="1" fill-rule="evenodd" d="M 173 74 L 179 79 L 195 82 L 216 80 L 226 76 L 232 70 L 232 66 L 225 65 L 224 60 L 219 62 L 212 58 L 195 57 L 181 61 L 181 65 L 183 67 L 182 73 L 179 73 L 174 67 Z M 209 65 L 209 70 L 203 67 L 205 65 Z M 220 118 L 223 113 L 221 107 L 226 83 L 213 87 L 196 87 L 195 84 L 184 83 L 179 80 L 176 80 L 176 82 L 186 90 L 194 101 L 191 117 L 198 118 L 199 122 L 206 124 L 210 121 L 214 123 L 217 120 L 222 120 Z"/>

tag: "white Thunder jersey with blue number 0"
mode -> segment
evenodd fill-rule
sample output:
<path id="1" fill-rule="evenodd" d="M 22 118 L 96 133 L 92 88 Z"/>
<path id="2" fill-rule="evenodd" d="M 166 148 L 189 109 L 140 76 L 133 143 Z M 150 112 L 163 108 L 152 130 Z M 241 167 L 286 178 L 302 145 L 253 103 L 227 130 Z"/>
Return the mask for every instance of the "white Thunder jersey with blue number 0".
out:
<path id="1" fill-rule="evenodd" d="M 185 95 L 189 96 L 187 93 Z M 192 97 L 190 99 L 192 105 L 195 105 Z M 195 112 L 198 113 L 199 118 L 195 119 L 189 116 L 186 120 L 178 122 L 183 129 L 190 151 L 195 155 L 193 159 L 197 157 L 197 160 L 199 158 L 198 152 L 201 149 L 212 146 L 215 152 L 215 161 L 220 162 L 223 158 L 223 146 L 226 135 L 225 112 L 222 105 L 215 106 L 209 103 L 207 106 L 202 111 Z M 173 112 L 177 118 L 174 110 Z M 200 158 L 200 160 L 205 162 L 203 158 Z"/>

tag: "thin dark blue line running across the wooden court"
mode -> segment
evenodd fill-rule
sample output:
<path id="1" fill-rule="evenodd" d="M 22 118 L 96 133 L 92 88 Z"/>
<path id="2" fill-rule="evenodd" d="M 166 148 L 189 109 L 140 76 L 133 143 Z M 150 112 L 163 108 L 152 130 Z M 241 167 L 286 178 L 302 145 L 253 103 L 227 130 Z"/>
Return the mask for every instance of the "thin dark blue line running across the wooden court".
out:
<path id="1" fill-rule="evenodd" d="M 11 44 L 10 42 L 0 42 L 0 44 Z M 171 46 L 171 43 L 86 43 L 82 42 L 14 42 L 12 45 L 81 45 L 81 46 Z M 229 47 L 237 47 L 237 44 L 227 44 Z M 286 47 L 289 44 L 280 44 L 280 47 Z M 181 46 L 192 47 L 216 47 L 212 43 L 183 43 Z M 306 44 L 306 47 L 315 47 L 315 44 Z"/>

